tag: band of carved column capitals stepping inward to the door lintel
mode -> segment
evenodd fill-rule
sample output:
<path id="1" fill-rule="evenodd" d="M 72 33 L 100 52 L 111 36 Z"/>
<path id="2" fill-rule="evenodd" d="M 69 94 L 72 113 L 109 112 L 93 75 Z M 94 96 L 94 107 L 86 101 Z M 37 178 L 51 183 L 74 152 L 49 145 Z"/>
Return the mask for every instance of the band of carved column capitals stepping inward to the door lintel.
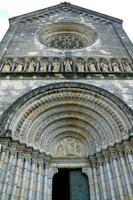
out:
<path id="1" fill-rule="evenodd" d="M 70 137 L 68 136 L 68 138 L 70 139 Z M 62 138 L 64 139 L 64 138 Z M 74 139 L 74 142 L 78 141 L 77 139 L 75 140 L 75 138 L 71 138 L 70 141 L 72 141 Z M 60 140 L 59 140 L 60 142 Z M 65 141 L 66 142 L 66 141 Z M 72 141 L 73 142 L 73 141 Z M 78 141 L 79 142 L 79 141 Z M 65 160 L 75 160 L 75 159 L 82 159 L 82 155 L 77 156 L 77 154 L 71 154 L 71 149 L 69 149 L 70 154 L 68 153 L 68 156 L 57 156 L 56 152 L 55 155 L 58 158 L 52 158 L 50 155 L 46 155 L 45 152 L 40 152 L 39 150 L 35 150 L 31 147 L 28 147 L 26 144 L 21 144 L 19 141 L 13 141 L 13 139 L 10 137 L 0 137 L 0 144 L 1 144 L 1 153 L 2 152 L 9 152 L 9 155 L 17 155 L 18 158 L 23 158 L 25 160 L 35 160 L 35 162 L 38 165 L 43 166 L 44 164 L 46 166 L 50 166 L 49 163 L 53 162 L 54 160 L 56 162 L 56 159 L 62 161 L 62 158 Z M 69 142 L 67 142 L 67 144 L 69 145 Z M 125 146 L 126 144 L 126 146 Z M 57 143 L 58 146 L 58 143 Z M 127 151 L 127 146 L 130 147 L 130 151 Z M 81 150 L 83 149 L 83 146 L 81 146 Z M 73 147 L 72 147 L 73 148 Z M 127 141 L 123 141 L 119 144 L 116 144 L 113 147 L 109 147 L 106 150 L 102 150 L 101 152 L 95 153 L 93 155 L 89 155 L 88 156 L 88 164 L 90 167 L 91 165 L 94 166 L 99 166 L 99 165 L 103 165 L 103 163 L 105 163 L 106 161 L 109 161 L 111 159 L 118 159 L 120 158 L 120 156 L 124 157 L 127 154 L 132 154 L 133 152 L 133 141 L 131 140 L 131 138 Z M 76 156 L 75 156 L 76 155 Z M 84 158 L 86 159 L 86 158 Z M 53 161 L 52 161 L 53 160 Z M 76 163 L 76 162 L 75 162 Z"/>

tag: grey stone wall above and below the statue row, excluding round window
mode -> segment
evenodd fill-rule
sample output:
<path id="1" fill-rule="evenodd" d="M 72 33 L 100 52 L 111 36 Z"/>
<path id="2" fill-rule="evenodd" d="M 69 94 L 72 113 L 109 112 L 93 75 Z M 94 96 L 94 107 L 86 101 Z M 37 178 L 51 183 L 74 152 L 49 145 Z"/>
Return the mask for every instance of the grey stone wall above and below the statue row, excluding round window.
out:
<path id="1" fill-rule="evenodd" d="M 38 31 L 43 27 L 59 22 L 76 22 L 92 28 L 97 34 L 96 42 L 87 48 L 79 50 L 57 50 L 48 49 L 38 40 Z M 86 10 L 68 3 L 42 9 L 36 12 L 25 14 L 10 19 L 10 27 L 0 44 L 0 57 L 82 57 L 82 58 L 122 58 L 126 57 L 132 62 L 133 45 L 122 28 L 122 21 L 110 16 Z M 31 89 L 49 83 L 56 83 L 64 80 L 55 78 L 24 77 L 23 80 L 0 80 L 0 114 Z M 2 78 L 3 79 L 3 78 Z M 16 79 L 19 79 L 16 77 Z M 20 77 L 21 79 L 21 77 Z M 92 84 L 112 92 L 131 108 L 133 108 L 133 84 L 130 80 L 117 77 L 114 79 L 93 78 L 65 81 L 78 81 Z M 124 80 L 125 79 L 125 80 Z M 8 97 L 8 98 L 7 98 Z"/>

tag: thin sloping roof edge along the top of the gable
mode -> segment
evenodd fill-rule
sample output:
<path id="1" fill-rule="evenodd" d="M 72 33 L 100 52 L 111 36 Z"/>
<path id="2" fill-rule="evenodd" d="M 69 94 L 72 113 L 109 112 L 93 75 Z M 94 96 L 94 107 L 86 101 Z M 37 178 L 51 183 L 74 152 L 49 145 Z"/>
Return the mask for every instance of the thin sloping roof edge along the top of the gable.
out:
<path id="1" fill-rule="evenodd" d="M 53 11 L 54 9 L 61 8 L 62 6 L 68 6 L 70 8 L 73 8 L 73 9 L 76 9 L 76 10 L 79 10 L 79 11 L 82 11 L 82 12 L 85 12 L 85 13 L 88 13 L 88 14 L 103 17 L 103 18 L 106 18 L 108 20 L 117 22 L 119 24 L 123 23 L 123 20 L 121 20 L 119 18 L 115 18 L 115 17 L 109 16 L 109 15 L 106 15 L 106 14 L 102 14 L 102 13 L 99 13 L 99 12 L 96 12 L 96 11 L 93 11 L 93 10 L 89 10 L 89 9 L 86 9 L 86 8 L 83 8 L 83 7 L 80 7 L 80 6 L 76 6 L 76 5 L 73 5 L 73 4 L 68 3 L 68 2 L 62 2 L 62 3 L 54 5 L 54 6 L 50 6 L 50 7 L 43 8 L 43 9 L 40 9 L 40 10 L 37 10 L 37 11 L 32 11 L 32 12 L 29 12 L 29 13 L 26 13 L 26 14 L 22 14 L 22 15 L 19 15 L 19 16 L 9 18 L 9 22 L 11 23 L 11 22 L 15 21 L 16 19 L 23 19 L 23 18 L 31 17 L 32 15 L 35 15 L 35 14 L 38 14 L 38 13 Z"/>

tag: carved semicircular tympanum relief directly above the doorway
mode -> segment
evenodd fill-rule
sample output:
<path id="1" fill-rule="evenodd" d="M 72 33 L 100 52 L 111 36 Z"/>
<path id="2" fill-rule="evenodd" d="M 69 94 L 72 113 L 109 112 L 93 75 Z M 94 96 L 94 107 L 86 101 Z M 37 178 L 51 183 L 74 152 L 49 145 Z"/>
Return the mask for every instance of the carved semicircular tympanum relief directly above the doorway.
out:
<path id="1" fill-rule="evenodd" d="M 84 146 L 82 142 L 79 139 L 71 136 L 60 139 L 55 146 L 54 157 L 72 156 L 84 156 Z"/>

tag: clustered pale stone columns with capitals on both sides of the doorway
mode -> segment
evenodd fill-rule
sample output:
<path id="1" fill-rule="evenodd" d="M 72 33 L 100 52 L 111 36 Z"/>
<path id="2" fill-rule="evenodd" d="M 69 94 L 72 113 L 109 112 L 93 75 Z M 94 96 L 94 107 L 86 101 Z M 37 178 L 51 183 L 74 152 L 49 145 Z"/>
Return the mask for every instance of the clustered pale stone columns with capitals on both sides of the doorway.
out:
<path id="1" fill-rule="evenodd" d="M 31 193 L 35 192 L 36 198 L 50 199 L 53 176 L 58 172 L 59 167 L 67 166 L 65 160 L 63 158 L 57 158 L 57 160 L 56 158 L 48 159 L 45 154 L 20 144 L 18 141 L 13 141 L 11 138 L 0 138 L 0 142 L 2 141 L 8 145 L 7 151 L 2 151 L 1 153 L 0 169 L 2 170 L 2 176 L 4 175 L 4 179 L 2 176 L 0 177 L 0 183 L 2 183 L 0 195 L 2 198 L 4 196 L 8 197 L 9 186 L 12 186 L 12 198 L 18 199 L 21 197 L 26 199 Z M 132 142 L 131 138 L 126 141 L 127 145 L 129 143 L 133 148 Z M 119 146 L 125 151 L 123 144 L 124 142 L 117 145 L 117 148 Z M 14 155 L 10 153 L 13 146 L 16 149 L 16 154 Z M 23 149 L 24 156 L 21 149 Z M 74 168 L 78 163 L 78 166 L 82 168 L 82 173 L 87 175 L 91 197 L 104 195 L 109 199 L 112 197 L 117 199 L 119 192 L 122 192 L 124 199 L 132 199 L 132 180 L 130 178 L 132 177 L 132 155 L 130 154 L 127 162 L 129 155 L 119 157 L 116 152 L 118 156 L 116 159 L 111 156 L 110 152 L 112 151 L 115 154 L 115 146 L 89 156 L 88 162 L 86 160 L 83 161 L 82 158 L 70 158 L 70 160 L 67 159 L 67 163 L 69 161 L 69 167 Z M 108 156 L 108 162 L 104 156 Z M 84 162 L 85 165 L 83 165 Z M 6 167 L 9 165 L 10 167 Z M 14 182 L 16 184 L 13 184 Z M 6 189 L 4 190 L 4 188 Z M 122 190 L 122 188 L 124 189 Z M 28 191 L 27 193 L 25 193 L 26 190 Z"/>

